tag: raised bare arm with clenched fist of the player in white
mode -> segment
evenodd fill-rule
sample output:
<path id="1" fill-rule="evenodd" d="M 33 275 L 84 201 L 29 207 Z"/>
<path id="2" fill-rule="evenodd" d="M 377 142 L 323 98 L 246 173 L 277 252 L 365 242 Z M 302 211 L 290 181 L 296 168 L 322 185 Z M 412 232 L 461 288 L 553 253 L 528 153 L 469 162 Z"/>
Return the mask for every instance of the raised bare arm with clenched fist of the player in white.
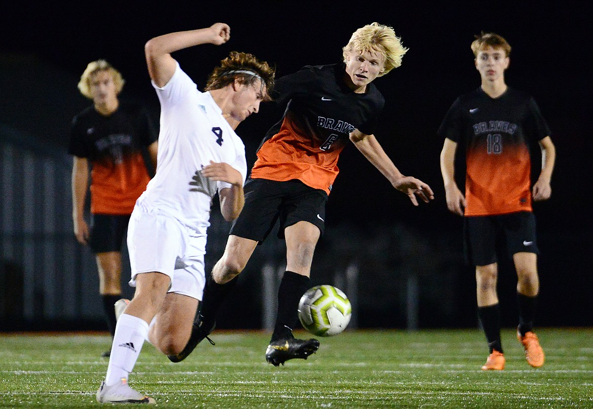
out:
<path id="1" fill-rule="evenodd" d="M 231 37 L 231 28 L 215 23 L 199 30 L 177 31 L 154 37 L 146 42 L 144 53 L 148 74 L 157 87 L 164 87 L 175 73 L 176 62 L 171 53 L 199 44 L 220 45 Z"/>

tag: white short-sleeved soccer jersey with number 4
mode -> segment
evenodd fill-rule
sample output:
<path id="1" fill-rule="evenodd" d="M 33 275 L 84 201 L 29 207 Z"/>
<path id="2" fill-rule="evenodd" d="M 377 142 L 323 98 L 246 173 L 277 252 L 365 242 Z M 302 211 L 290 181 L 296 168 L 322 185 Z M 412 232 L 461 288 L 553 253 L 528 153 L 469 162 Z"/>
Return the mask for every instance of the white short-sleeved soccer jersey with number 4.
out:
<path id="1" fill-rule="evenodd" d="M 210 161 L 225 162 L 247 175 L 245 146 L 222 116 L 210 92 L 200 92 L 177 63 L 175 73 L 159 88 L 161 103 L 157 172 L 138 204 L 168 213 L 206 234 L 212 197 L 229 183 L 210 181 L 200 173 Z"/>

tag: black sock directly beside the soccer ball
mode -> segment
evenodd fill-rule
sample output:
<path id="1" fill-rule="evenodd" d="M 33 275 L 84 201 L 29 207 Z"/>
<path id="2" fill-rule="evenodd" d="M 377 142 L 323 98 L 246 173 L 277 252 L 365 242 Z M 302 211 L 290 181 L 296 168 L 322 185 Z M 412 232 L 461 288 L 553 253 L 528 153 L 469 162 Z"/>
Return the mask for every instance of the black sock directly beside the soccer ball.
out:
<path id="1" fill-rule="evenodd" d="M 309 282 L 309 277 L 292 271 L 284 272 L 278 289 L 278 314 L 270 343 L 292 337 L 292 330 L 298 323 L 298 302 L 309 289 Z"/>

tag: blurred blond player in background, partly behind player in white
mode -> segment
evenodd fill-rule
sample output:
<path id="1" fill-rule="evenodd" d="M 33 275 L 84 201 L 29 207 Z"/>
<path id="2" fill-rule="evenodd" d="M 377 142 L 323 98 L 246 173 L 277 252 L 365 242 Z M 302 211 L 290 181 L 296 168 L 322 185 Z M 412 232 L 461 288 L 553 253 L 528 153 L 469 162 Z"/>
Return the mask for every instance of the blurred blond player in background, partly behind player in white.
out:
<path id="1" fill-rule="evenodd" d="M 114 334 L 114 303 L 122 298 L 122 241 L 136 199 L 150 180 L 143 151 L 157 164 L 157 132 L 144 106 L 119 101 L 123 78 L 105 60 L 88 64 L 78 88 L 93 106 L 72 120 L 68 153 L 72 168 L 74 234 L 97 258 L 99 292 L 107 327 Z M 91 228 L 84 209 L 91 177 Z M 109 351 L 103 356 L 109 356 Z"/>

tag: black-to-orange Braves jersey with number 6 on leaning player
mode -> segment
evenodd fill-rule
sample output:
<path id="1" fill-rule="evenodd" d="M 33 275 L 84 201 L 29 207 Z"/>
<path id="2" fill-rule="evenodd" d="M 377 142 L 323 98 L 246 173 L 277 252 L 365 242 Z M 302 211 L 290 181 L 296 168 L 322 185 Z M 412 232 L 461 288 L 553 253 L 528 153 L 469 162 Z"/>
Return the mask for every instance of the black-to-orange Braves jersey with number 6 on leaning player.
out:
<path id="1" fill-rule="evenodd" d="M 385 103 L 373 84 L 350 90 L 345 75 L 343 64 L 307 65 L 276 81 L 275 101 L 288 106 L 262 140 L 251 178 L 298 179 L 330 193 L 350 132 L 372 135 Z"/>

